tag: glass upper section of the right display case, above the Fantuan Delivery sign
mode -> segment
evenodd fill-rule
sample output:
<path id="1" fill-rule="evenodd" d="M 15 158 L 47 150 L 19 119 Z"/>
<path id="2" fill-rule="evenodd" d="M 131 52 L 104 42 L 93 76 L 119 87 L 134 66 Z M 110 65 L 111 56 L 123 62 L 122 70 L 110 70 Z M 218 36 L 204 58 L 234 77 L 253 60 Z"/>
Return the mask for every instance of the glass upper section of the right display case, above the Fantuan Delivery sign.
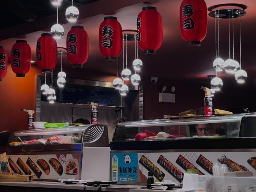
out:
<path id="1" fill-rule="evenodd" d="M 241 125 L 245 125 L 241 121 L 247 116 L 256 123 L 254 113 L 122 122 L 116 125 L 113 141 L 239 137 Z M 256 137 L 250 132 L 251 137 Z M 137 137 L 140 133 L 146 134 Z"/>

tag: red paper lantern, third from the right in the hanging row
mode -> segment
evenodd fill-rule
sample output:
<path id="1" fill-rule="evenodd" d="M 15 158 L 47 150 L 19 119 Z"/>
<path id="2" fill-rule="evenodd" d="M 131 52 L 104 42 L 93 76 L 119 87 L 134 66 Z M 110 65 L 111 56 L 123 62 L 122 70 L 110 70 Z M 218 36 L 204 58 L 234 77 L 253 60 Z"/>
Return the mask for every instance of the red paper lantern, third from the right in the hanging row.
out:
<path id="1" fill-rule="evenodd" d="M 116 17 L 104 17 L 99 26 L 99 50 L 106 61 L 116 61 L 122 52 L 122 26 Z"/>

